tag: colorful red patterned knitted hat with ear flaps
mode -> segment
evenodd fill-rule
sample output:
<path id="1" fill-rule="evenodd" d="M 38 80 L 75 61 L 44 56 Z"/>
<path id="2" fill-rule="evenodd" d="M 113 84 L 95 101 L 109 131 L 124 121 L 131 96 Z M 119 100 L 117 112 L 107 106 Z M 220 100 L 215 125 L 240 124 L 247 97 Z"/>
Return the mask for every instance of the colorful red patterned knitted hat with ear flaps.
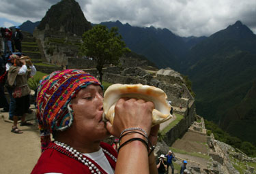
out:
<path id="1" fill-rule="evenodd" d="M 68 104 L 81 88 L 89 84 L 103 89 L 95 77 L 78 69 L 55 71 L 42 80 L 36 99 L 42 151 L 51 142 L 53 131 L 66 130 L 71 126 L 73 116 L 68 111 Z"/>

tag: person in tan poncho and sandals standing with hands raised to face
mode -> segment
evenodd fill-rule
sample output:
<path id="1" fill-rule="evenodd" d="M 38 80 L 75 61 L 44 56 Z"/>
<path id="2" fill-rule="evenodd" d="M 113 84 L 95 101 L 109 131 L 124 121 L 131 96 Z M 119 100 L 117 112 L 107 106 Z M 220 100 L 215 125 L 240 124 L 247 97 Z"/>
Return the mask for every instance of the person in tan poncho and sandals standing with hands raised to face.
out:
<path id="1" fill-rule="evenodd" d="M 20 126 L 31 126 L 32 124 L 25 121 L 25 114 L 29 111 L 29 94 L 30 88 L 27 84 L 29 77 L 35 75 L 36 69 L 31 61 L 27 61 L 30 69 L 27 69 L 25 56 L 18 57 L 14 60 L 14 65 L 10 67 L 8 72 L 8 84 L 14 86 L 13 97 L 15 98 L 16 107 L 14 109 L 14 124 L 12 133 L 23 133 L 18 129 L 18 118 L 21 118 Z"/>

